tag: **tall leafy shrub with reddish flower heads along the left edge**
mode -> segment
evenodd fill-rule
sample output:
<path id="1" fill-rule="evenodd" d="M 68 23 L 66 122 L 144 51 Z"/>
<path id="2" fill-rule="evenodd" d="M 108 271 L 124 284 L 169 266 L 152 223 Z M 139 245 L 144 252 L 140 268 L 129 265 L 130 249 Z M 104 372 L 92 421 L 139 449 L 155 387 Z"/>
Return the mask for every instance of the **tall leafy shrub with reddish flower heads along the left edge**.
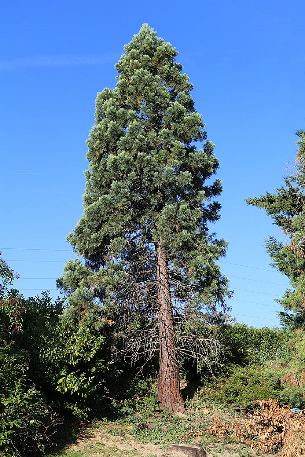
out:
<path id="1" fill-rule="evenodd" d="M 28 378 L 29 353 L 16 342 L 26 309 L 9 287 L 15 277 L 0 257 L 0 452 L 6 457 L 43 453 L 56 422 Z"/>

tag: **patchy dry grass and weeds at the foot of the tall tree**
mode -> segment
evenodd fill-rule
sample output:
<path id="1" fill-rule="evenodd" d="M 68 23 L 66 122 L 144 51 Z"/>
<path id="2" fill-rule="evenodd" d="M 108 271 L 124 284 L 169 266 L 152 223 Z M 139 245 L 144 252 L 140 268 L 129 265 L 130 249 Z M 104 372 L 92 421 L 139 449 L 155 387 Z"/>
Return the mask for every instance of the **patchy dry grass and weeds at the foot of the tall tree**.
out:
<path id="1" fill-rule="evenodd" d="M 95 421 L 83 425 L 78 434 L 59 442 L 58 451 L 49 457 L 161 457 L 169 444 L 203 447 L 209 457 L 253 457 L 256 453 L 246 446 L 232 443 L 228 437 L 219 439 L 206 435 L 212 417 L 221 415 L 228 421 L 234 412 L 221 405 L 204 404 L 202 398 L 187 402 L 184 415 L 148 410 L 139 406 L 125 417 Z"/>

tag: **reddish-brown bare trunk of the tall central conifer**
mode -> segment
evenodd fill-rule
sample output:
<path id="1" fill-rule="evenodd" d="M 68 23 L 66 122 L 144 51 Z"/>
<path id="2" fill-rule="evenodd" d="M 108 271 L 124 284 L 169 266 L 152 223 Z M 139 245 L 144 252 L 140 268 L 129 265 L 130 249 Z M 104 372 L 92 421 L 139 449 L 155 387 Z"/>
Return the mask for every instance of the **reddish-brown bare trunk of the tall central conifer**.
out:
<path id="1" fill-rule="evenodd" d="M 156 247 L 157 294 L 159 304 L 159 379 L 158 400 L 161 408 L 169 412 L 184 411 L 184 401 L 180 391 L 180 376 L 176 360 L 176 343 L 173 328 L 173 310 L 166 253 L 160 241 Z"/>

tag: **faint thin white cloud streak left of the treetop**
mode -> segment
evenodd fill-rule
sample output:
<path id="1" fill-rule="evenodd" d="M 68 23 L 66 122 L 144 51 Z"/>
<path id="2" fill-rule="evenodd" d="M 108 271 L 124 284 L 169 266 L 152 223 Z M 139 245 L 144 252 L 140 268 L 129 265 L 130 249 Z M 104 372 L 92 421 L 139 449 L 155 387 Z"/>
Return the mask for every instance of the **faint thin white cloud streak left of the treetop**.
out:
<path id="1" fill-rule="evenodd" d="M 100 65 L 118 60 L 117 55 L 37 55 L 12 60 L 0 60 L 0 71 L 31 67 L 70 67 Z M 116 60 L 115 60 L 116 62 Z"/>

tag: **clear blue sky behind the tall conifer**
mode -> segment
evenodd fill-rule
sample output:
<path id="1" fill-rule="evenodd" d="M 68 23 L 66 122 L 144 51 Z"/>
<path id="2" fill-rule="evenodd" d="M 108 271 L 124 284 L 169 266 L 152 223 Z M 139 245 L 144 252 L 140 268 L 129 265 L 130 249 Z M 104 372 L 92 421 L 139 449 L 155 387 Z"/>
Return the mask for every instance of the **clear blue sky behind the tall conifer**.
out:
<path id="1" fill-rule="evenodd" d="M 66 235 L 82 215 L 85 140 L 94 101 L 115 86 L 114 64 L 144 22 L 179 51 L 195 108 L 216 144 L 219 263 L 238 322 L 278 325 L 274 301 L 287 280 L 264 243 L 283 235 L 245 198 L 280 187 L 305 128 L 301 0 L 104 2 L 16 0 L 2 6 L 0 35 L 0 251 L 25 295 L 49 289 L 73 258 Z"/>

